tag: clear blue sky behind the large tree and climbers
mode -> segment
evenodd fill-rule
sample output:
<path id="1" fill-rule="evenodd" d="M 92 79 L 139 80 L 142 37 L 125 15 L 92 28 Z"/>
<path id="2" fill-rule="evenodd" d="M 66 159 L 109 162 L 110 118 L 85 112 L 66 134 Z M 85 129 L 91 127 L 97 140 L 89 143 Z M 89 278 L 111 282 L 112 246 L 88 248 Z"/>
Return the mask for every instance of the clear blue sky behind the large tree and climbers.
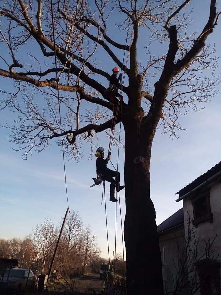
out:
<path id="1" fill-rule="evenodd" d="M 193 2 L 192 28 L 202 28 L 208 15 L 208 0 Z M 200 5 L 199 5 L 200 4 Z M 206 18 L 207 19 L 207 18 Z M 220 20 L 221 22 L 221 20 Z M 114 34 L 114 26 L 109 29 Z M 220 55 L 220 24 L 210 35 L 209 42 L 216 43 L 217 56 Z M 146 60 L 145 35 L 139 39 L 139 58 Z M 157 45 L 153 50 L 158 50 Z M 100 52 L 100 51 L 99 51 Z M 7 54 L 7 52 L 5 52 Z M 216 73 L 220 73 L 219 67 Z M 115 66 L 105 62 L 105 70 L 111 73 Z M 0 60 L 0 68 L 3 63 Z M 154 81 L 154 80 L 153 80 Z M 11 81 L 0 77 L 0 84 L 10 87 Z M 107 84 L 107 81 L 105 82 Z M 218 86 L 219 88 L 219 86 Z M 157 224 L 182 207 L 176 203 L 175 193 L 206 172 L 220 158 L 221 107 L 220 94 L 204 105 L 200 112 L 188 111 L 179 121 L 185 131 L 178 133 L 179 139 L 162 135 L 157 130 L 153 142 L 151 159 L 151 197 L 157 213 Z M 202 105 L 203 106 L 203 105 Z M 51 219 L 58 224 L 64 215 L 67 203 L 64 187 L 62 154 L 55 142 L 41 153 L 33 152 L 27 160 L 22 160 L 22 152 L 16 152 L 14 143 L 7 140 L 10 130 L 2 127 L 6 122 L 13 125 L 16 114 L 5 109 L 0 112 L 0 238 L 23 238 L 32 232 L 33 227 Z M 108 146 L 107 137 L 99 134 L 99 143 Z M 102 256 L 107 258 L 107 239 L 104 205 L 101 206 L 101 187 L 89 188 L 95 177 L 95 158 L 88 160 L 89 147 L 83 143 L 83 157 L 76 163 L 66 159 L 67 184 L 70 209 L 79 211 L 85 224 L 90 223 L 95 232 Z M 124 155 L 120 151 L 119 171 L 123 175 Z M 117 149 L 112 148 L 112 159 L 116 163 Z M 123 182 L 123 178 L 122 178 Z M 115 204 L 108 201 L 107 217 L 110 252 L 114 250 Z M 125 215 L 125 196 L 121 192 L 122 216 Z M 121 229 L 118 207 L 117 252 L 122 253 Z"/>

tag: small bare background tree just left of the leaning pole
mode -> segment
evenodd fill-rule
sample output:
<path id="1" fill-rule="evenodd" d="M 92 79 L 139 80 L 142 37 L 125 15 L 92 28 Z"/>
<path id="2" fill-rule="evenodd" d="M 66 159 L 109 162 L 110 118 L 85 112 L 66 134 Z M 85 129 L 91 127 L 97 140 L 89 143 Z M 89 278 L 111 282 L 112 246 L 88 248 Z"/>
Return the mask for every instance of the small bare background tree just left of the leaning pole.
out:
<path id="1" fill-rule="evenodd" d="M 32 243 L 33 248 L 40 253 L 42 260 L 42 271 L 44 272 L 45 261 L 48 255 L 53 251 L 54 245 L 58 236 L 58 230 L 54 224 L 45 218 L 44 222 L 40 223 L 33 229 Z"/>

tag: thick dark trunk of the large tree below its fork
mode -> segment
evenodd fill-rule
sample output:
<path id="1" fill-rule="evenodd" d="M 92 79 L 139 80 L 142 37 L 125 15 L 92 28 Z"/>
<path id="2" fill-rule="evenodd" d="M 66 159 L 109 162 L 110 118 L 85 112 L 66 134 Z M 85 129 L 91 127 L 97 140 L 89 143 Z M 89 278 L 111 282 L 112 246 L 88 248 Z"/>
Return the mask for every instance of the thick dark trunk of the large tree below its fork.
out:
<path id="1" fill-rule="evenodd" d="M 149 163 L 153 135 L 141 132 L 140 120 L 125 128 L 126 285 L 128 295 L 163 295 L 156 215 L 150 199 Z"/>

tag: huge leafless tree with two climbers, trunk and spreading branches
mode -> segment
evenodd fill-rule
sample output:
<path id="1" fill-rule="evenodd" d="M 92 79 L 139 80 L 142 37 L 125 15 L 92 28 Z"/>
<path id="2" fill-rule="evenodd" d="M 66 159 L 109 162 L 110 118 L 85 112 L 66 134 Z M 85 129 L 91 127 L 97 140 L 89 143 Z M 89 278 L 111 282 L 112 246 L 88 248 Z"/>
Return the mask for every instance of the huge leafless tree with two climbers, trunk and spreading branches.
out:
<path id="1" fill-rule="evenodd" d="M 2 107 L 9 106 L 19 114 L 10 139 L 24 149 L 25 157 L 33 150 L 43 150 L 52 139 L 61 144 L 62 136 L 71 135 L 71 140 L 68 138 L 65 142 L 65 152 L 78 160 L 83 142 L 91 145 L 92 153 L 96 145 L 95 134 L 106 131 L 110 136 L 110 129 L 122 119 L 125 132 L 124 238 L 129 295 L 144 294 L 147 288 L 150 294 L 163 294 L 149 172 L 157 126 L 163 126 L 165 132 L 176 136 L 176 130 L 181 129 L 179 115 L 184 115 L 188 108 L 199 110 L 199 104 L 207 102 L 216 93 L 218 81 L 214 73 L 211 77 L 202 76 L 204 69 L 213 71 L 216 67 L 215 49 L 206 45 L 207 37 L 218 22 L 216 0 L 209 1 L 208 19 L 197 20 L 202 23 L 200 33 L 192 32 L 191 7 L 188 10 L 187 6 L 190 3 L 191 0 L 185 0 L 181 5 L 178 0 L 140 0 L 139 3 L 137 0 L 111 3 L 108 0 L 95 0 L 94 3 L 59 0 L 53 5 L 59 81 L 54 78 L 49 2 L 8 0 L 0 7 L 1 42 L 8 52 L 1 53 L 3 68 L 0 75 L 14 81 L 13 90 L 2 86 L 1 93 L 6 95 Z M 108 33 L 109 17 L 115 13 L 121 22 L 113 28 L 114 33 L 121 29 L 122 35 L 126 36 L 129 28 L 129 45 L 114 41 Z M 137 58 L 141 28 L 145 29 L 147 37 L 147 62 Z M 155 54 L 152 54 L 156 41 L 166 42 L 167 52 L 158 56 L 155 47 Z M 38 46 L 44 62 L 40 62 L 39 54 L 31 53 L 33 45 Z M 99 65 L 102 59 L 100 53 L 95 54 L 97 48 L 103 50 L 103 59 L 110 58 L 128 77 L 128 86 L 122 85 L 120 108 L 119 93 L 113 96 L 98 82 L 99 78 L 109 81 L 110 75 Z M 120 51 L 124 50 L 130 67 L 121 61 Z M 151 87 L 149 77 L 155 73 L 156 80 Z M 65 108 L 61 128 L 56 89 L 60 90 L 60 103 Z M 20 92 L 22 102 L 18 96 Z M 45 97 L 43 106 L 39 103 L 42 101 L 40 95 Z"/>

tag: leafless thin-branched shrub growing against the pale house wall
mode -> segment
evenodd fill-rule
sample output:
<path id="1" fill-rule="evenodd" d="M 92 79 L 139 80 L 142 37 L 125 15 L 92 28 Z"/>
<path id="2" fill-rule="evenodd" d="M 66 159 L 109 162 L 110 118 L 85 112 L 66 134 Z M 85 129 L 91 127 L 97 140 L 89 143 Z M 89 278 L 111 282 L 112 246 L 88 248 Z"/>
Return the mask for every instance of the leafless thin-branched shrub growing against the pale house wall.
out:
<path id="1" fill-rule="evenodd" d="M 185 237 L 185 244 L 183 245 L 183 247 L 179 246 L 177 240 L 178 256 L 175 263 L 176 276 L 173 278 L 174 288 L 173 290 L 166 290 L 166 294 L 196 294 L 197 291 L 202 288 L 202 285 L 200 286 L 198 269 L 201 262 L 207 263 L 207 272 L 204 272 L 203 279 L 207 283 L 206 288 L 208 288 L 206 293 L 205 290 L 201 290 L 202 294 L 220 294 L 220 283 L 216 284 L 216 278 L 213 277 L 213 280 L 215 281 L 215 284 L 213 285 L 211 285 L 210 280 L 208 281 L 207 278 L 208 272 L 211 271 L 208 268 L 208 265 L 212 262 L 218 262 L 219 260 L 219 254 L 215 253 L 214 249 L 214 242 L 216 238 L 217 236 L 215 236 L 213 240 L 204 240 L 204 248 L 201 249 L 199 246 L 199 238 L 196 237 L 195 226 L 192 224 L 192 220 L 190 219 L 190 216 L 188 214 L 187 235 Z M 217 272 L 215 274 L 217 275 Z M 210 275 L 212 276 L 213 273 L 211 273 Z"/>

